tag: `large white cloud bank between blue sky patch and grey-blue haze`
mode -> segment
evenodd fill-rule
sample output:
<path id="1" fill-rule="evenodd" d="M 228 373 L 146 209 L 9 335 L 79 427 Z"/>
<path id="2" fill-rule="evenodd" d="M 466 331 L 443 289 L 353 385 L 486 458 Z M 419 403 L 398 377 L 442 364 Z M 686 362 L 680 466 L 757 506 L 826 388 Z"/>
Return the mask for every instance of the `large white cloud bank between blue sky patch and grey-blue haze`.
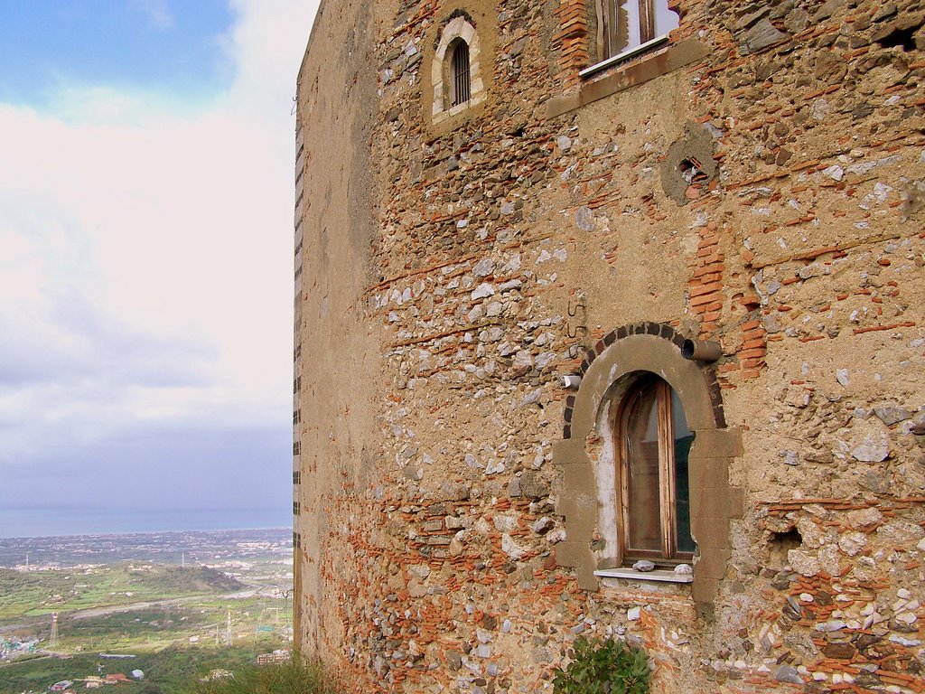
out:
<path id="1" fill-rule="evenodd" d="M 290 421 L 290 110 L 316 2 L 231 5 L 235 80 L 208 107 L 106 85 L 0 104 L 0 478 L 49 440 Z"/>

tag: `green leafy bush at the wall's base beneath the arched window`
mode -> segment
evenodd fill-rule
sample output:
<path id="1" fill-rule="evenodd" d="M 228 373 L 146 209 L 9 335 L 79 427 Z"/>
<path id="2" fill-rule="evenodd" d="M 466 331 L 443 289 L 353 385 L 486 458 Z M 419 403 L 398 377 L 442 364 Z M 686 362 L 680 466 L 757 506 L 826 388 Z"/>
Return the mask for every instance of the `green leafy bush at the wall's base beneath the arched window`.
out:
<path id="1" fill-rule="evenodd" d="M 557 668 L 555 694 L 646 694 L 651 671 L 646 651 L 608 638 L 575 639 L 572 663 Z"/>

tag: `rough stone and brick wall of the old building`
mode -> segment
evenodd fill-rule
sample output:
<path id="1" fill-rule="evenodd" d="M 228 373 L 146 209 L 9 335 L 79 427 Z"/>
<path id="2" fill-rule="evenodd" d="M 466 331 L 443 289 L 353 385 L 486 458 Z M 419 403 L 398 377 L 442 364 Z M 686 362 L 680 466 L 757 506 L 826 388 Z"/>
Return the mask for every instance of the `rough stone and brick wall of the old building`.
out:
<path id="1" fill-rule="evenodd" d="M 925 2 L 666 7 L 601 64 L 596 0 L 322 2 L 296 618 L 355 691 L 551 691 L 611 635 L 656 692 L 925 691 Z M 692 574 L 624 561 L 648 373 L 694 433 Z"/>

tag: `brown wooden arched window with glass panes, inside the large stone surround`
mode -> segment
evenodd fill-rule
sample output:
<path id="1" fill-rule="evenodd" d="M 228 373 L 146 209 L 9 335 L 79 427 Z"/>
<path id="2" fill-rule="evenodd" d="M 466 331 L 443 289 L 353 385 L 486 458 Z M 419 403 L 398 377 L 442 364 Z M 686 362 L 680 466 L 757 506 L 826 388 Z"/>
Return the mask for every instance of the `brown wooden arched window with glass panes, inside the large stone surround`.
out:
<path id="1" fill-rule="evenodd" d="M 623 395 L 613 431 L 624 563 L 690 562 L 687 459 L 694 434 L 681 400 L 661 378 L 638 378 Z"/>

